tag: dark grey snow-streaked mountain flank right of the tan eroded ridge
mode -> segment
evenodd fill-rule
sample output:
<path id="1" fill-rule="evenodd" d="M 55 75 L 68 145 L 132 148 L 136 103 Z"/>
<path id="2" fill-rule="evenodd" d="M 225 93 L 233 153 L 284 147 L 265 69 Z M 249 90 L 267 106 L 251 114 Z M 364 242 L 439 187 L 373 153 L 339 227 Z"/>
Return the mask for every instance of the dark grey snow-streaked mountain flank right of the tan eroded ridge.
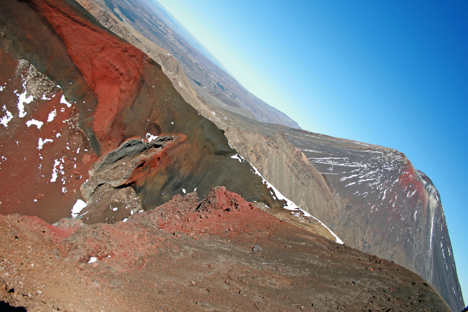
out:
<path id="1" fill-rule="evenodd" d="M 444 211 L 431 180 L 390 148 L 325 136 L 309 142 L 304 153 L 346 199 L 331 225 L 337 235 L 418 273 L 454 311 L 463 309 Z"/>

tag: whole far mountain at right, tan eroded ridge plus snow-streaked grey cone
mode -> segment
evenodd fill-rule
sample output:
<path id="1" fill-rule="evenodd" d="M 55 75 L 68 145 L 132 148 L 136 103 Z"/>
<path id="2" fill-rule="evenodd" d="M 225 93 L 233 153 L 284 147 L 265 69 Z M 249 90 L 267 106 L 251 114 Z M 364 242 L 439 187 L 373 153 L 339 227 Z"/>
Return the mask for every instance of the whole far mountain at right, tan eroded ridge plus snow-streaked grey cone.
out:
<path id="1" fill-rule="evenodd" d="M 464 308 L 439 192 L 402 152 L 261 123 L 207 105 L 231 124 L 221 128 L 240 154 L 345 244 L 409 268 L 453 311 Z"/>

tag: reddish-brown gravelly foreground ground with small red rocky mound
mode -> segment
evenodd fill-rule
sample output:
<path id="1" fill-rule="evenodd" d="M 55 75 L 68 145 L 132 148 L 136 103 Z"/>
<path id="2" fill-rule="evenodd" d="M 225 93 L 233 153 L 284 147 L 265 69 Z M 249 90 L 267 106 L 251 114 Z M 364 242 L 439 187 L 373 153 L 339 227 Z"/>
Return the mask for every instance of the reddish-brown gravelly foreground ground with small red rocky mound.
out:
<path id="1" fill-rule="evenodd" d="M 113 225 L 1 216 L 0 234 L 4 310 L 451 311 L 409 270 L 223 188 Z"/>

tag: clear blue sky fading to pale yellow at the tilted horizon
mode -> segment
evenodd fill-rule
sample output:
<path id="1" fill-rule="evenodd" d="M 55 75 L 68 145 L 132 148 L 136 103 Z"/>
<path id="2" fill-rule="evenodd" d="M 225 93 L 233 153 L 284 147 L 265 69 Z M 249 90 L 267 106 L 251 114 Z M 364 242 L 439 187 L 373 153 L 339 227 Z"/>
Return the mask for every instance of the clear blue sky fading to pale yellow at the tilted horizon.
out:
<path id="1" fill-rule="evenodd" d="M 159 2 L 303 129 L 398 149 L 427 174 L 468 301 L 468 1 Z"/>

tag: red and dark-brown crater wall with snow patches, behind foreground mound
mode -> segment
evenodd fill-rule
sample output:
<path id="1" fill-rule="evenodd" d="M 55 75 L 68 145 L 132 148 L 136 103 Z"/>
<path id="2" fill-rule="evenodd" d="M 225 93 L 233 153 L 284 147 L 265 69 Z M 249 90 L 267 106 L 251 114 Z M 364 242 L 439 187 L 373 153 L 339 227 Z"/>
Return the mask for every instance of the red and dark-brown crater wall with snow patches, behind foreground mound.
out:
<path id="1" fill-rule="evenodd" d="M 52 223 L 77 203 L 85 222 L 111 223 L 129 201 L 152 209 L 219 185 L 282 207 L 161 66 L 78 3 L 8 1 L 0 31 L 1 213 Z"/>

